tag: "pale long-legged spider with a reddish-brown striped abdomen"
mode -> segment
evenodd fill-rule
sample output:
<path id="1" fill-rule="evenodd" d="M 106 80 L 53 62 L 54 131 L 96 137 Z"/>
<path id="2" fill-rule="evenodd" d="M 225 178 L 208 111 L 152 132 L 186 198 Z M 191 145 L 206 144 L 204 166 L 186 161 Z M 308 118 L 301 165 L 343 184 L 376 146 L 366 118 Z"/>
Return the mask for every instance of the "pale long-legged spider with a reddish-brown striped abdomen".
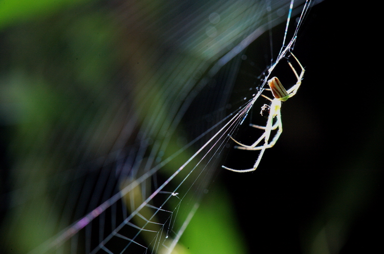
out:
<path id="1" fill-rule="evenodd" d="M 259 137 L 259 139 L 256 142 L 254 142 L 250 146 L 241 144 L 240 142 L 234 140 L 233 137 L 229 136 L 234 142 L 239 144 L 239 146 L 235 146 L 235 148 L 237 148 L 237 149 L 251 150 L 251 151 L 261 150 L 259 153 L 258 159 L 255 161 L 255 163 L 253 165 L 253 168 L 244 169 L 244 170 L 236 170 L 236 169 L 230 169 L 230 168 L 227 168 L 225 166 L 222 166 L 224 169 L 234 171 L 234 172 L 250 172 L 250 171 L 256 170 L 257 167 L 259 166 L 260 160 L 263 156 L 265 149 L 273 147 L 273 145 L 276 143 L 276 141 L 278 141 L 280 134 L 283 132 L 283 125 L 281 122 L 281 112 L 280 112 L 281 102 L 288 100 L 289 98 L 291 98 L 292 96 L 294 96 L 296 94 L 298 87 L 300 87 L 300 85 L 302 84 L 302 79 L 303 79 L 304 72 L 305 72 L 303 65 L 297 60 L 297 58 L 292 53 L 291 53 L 291 55 L 297 61 L 298 65 L 300 65 L 300 67 L 302 69 L 300 76 L 299 76 L 299 75 L 297 75 L 297 72 L 293 68 L 292 64 L 290 62 L 288 62 L 289 66 L 291 67 L 293 73 L 295 74 L 295 76 L 297 78 L 296 84 L 293 85 L 288 90 L 286 90 L 278 78 L 273 77 L 270 80 L 268 80 L 268 85 L 270 88 L 268 90 L 270 90 L 272 92 L 274 99 L 272 100 L 272 99 L 262 95 L 264 98 L 270 100 L 271 104 L 269 107 L 268 107 L 268 105 L 264 104 L 264 106 L 262 107 L 262 110 L 260 112 L 263 116 L 265 114 L 268 115 L 267 125 L 266 126 L 259 126 L 259 125 L 254 125 L 254 124 L 249 125 L 249 126 L 254 127 L 254 128 L 265 130 L 264 133 Z M 274 118 L 276 118 L 276 121 L 273 124 Z M 274 137 L 272 138 L 272 141 L 269 142 L 269 136 L 271 134 L 271 131 L 275 130 L 276 128 L 279 128 L 279 129 L 276 132 L 276 134 L 274 135 Z M 257 146 L 263 139 L 264 139 L 264 145 Z"/>

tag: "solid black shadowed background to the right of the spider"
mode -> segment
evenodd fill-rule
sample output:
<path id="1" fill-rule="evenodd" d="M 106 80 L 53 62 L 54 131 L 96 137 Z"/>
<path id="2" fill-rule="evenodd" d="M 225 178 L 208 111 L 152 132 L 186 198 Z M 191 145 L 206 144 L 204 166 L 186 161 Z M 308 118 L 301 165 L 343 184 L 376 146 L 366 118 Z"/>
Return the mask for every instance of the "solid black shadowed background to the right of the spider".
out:
<path id="1" fill-rule="evenodd" d="M 222 173 L 251 253 L 382 250 L 383 86 L 370 81 L 365 17 L 334 1 L 310 11 L 294 50 L 306 73 L 283 102 L 283 134 L 256 171 Z M 257 156 L 233 151 L 226 164 L 251 168 Z"/>

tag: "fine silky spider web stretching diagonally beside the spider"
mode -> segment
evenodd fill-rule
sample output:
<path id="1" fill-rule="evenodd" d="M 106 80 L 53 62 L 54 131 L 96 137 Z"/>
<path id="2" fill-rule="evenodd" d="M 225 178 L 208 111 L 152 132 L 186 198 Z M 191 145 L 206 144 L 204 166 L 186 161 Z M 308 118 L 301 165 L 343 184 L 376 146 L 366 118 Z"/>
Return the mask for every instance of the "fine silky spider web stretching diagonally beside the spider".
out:
<path id="1" fill-rule="evenodd" d="M 24 176 L 10 194 L 17 219 L 8 241 L 21 241 L 17 230 L 29 228 L 35 235 L 24 246 L 29 253 L 193 253 L 179 240 L 221 167 L 227 134 L 243 123 L 270 73 L 294 49 L 311 5 L 109 4 L 111 24 L 127 43 L 120 72 L 129 75 L 116 74 L 113 92 L 99 85 L 90 100 L 61 111 L 48 131 L 32 130 L 49 141 L 33 141 L 15 166 Z M 280 52 L 270 53 L 258 90 L 227 114 L 246 48 L 282 22 Z M 43 178 L 36 173 L 41 168 L 48 169 Z M 26 222 L 31 226 L 16 226 Z"/>

